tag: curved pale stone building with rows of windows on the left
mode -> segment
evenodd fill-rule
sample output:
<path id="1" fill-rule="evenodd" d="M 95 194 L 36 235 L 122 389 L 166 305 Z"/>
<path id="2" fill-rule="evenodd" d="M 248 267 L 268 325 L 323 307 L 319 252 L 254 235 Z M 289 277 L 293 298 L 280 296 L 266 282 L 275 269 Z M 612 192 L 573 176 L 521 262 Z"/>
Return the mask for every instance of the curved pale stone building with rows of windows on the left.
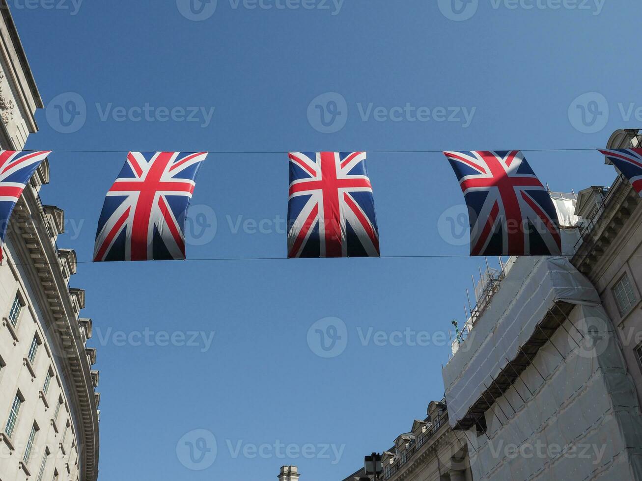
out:
<path id="1" fill-rule="evenodd" d="M 0 148 L 20 150 L 37 131 L 42 100 L 0 0 Z M 98 477 L 98 371 L 87 348 L 85 291 L 69 286 L 73 250 L 58 248 L 64 212 L 43 205 L 43 162 L 8 224 L 0 266 L 0 480 L 94 481 Z"/>

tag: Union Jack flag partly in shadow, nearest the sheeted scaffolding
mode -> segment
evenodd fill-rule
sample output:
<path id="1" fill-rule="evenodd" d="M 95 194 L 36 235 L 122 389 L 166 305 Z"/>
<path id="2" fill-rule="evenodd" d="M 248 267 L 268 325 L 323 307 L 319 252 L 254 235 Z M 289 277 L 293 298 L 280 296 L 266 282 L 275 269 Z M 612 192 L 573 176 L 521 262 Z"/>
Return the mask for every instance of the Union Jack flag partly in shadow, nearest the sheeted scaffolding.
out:
<path id="1" fill-rule="evenodd" d="M 521 151 L 444 152 L 468 206 L 471 255 L 559 255 L 550 194 Z"/>

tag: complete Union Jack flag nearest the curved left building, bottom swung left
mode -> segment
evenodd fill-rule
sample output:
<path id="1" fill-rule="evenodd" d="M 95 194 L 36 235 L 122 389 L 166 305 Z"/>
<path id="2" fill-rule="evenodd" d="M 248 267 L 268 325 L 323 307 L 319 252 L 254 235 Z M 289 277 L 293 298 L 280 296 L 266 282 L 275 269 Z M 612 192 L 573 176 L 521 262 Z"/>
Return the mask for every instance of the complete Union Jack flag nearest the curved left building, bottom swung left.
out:
<path id="1" fill-rule="evenodd" d="M 207 152 L 130 152 L 107 192 L 94 262 L 182 260 L 184 225 Z"/>

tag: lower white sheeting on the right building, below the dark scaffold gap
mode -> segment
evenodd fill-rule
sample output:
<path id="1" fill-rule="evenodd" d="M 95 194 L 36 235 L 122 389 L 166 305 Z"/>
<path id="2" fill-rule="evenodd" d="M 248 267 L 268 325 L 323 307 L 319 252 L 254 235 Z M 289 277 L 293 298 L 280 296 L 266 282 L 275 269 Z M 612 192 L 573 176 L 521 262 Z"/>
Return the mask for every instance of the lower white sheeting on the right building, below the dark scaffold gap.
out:
<path id="1" fill-rule="evenodd" d="M 575 307 L 534 365 L 486 412 L 487 434 L 469 430 L 473 478 L 642 479 L 636 389 L 603 308 Z"/>

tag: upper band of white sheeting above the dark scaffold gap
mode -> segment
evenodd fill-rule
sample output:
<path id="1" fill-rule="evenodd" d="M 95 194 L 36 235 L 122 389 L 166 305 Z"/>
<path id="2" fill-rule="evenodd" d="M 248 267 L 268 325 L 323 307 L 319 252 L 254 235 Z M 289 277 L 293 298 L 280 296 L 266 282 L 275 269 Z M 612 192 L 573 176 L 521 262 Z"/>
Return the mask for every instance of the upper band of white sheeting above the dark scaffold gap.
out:
<path id="1" fill-rule="evenodd" d="M 442 370 L 451 426 L 514 359 L 558 301 L 597 306 L 593 285 L 566 257 L 519 257 L 489 307 Z"/>

